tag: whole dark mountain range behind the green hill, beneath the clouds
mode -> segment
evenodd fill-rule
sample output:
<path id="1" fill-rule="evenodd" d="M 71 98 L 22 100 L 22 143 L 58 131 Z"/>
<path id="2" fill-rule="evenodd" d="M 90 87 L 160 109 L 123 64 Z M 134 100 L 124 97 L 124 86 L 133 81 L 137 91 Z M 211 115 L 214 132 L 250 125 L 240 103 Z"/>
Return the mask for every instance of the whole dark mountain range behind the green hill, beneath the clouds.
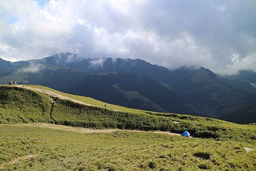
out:
<path id="1" fill-rule="evenodd" d="M 253 71 L 220 76 L 204 67 L 169 70 L 141 59 L 92 59 L 61 52 L 40 60 L 0 58 L 0 84 L 10 79 L 142 110 L 256 122 Z"/>

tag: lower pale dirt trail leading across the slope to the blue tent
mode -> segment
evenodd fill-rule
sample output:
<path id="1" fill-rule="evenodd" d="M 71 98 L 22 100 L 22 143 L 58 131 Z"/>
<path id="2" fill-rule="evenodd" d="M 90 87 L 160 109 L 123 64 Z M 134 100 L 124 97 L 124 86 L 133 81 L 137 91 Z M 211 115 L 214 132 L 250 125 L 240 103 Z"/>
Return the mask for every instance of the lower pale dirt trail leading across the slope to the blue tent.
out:
<path id="1" fill-rule="evenodd" d="M 89 129 L 89 128 L 79 128 L 79 127 L 71 127 L 71 126 L 65 126 L 65 125 L 55 125 L 55 124 L 48 124 L 48 123 L 17 123 L 17 124 L 0 124 L 1 126 L 29 126 L 29 127 L 40 127 L 40 128 L 51 128 L 51 129 L 57 129 L 57 130 L 67 130 L 67 131 L 73 131 L 73 132 L 79 132 L 79 133 L 111 133 L 115 131 L 132 131 L 132 132 L 148 132 L 148 133 L 165 133 L 168 135 L 176 135 L 180 136 L 179 133 L 171 133 L 171 132 L 165 132 L 165 131 L 143 131 L 143 130 L 119 130 L 119 129 Z"/>

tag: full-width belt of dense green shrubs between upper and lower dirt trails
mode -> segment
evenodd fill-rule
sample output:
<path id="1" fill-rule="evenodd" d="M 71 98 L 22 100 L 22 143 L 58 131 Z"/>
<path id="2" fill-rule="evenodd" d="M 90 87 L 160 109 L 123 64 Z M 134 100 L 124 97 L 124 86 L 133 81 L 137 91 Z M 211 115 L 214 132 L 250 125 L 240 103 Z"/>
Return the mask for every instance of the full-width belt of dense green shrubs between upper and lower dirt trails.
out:
<path id="1" fill-rule="evenodd" d="M 131 112 L 133 110 L 129 108 L 125 108 L 129 112 L 113 111 L 102 107 L 85 106 L 68 100 L 55 101 L 50 116 L 51 101 L 49 97 L 47 99 L 41 93 L 18 87 L 2 86 L 0 88 L 3 89 L 3 91 L 0 91 L 1 99 L 3 99 L 2 97 L 6 99 L 12 97 L 14 99 L 13 101 L 1 101 L 1 105 L 4 106 L 0 108 L 1 123 L 53 122 L 53 119 L 56 124 L 85 128 L 163 130 L 177 133 L 187 130 L 198 137 L 256 143 L 255 125 L 239 125 L 218 119 L 173 113 L 140 112 L 140 110 Z M 81 96 L 78 98 L 83 99 Z M 85 102 L 88 103 L 88 101 Z M 11 116 L 10 111 L 14 113 Z M 180 123 L 174 123 L 173 121 Z"/>

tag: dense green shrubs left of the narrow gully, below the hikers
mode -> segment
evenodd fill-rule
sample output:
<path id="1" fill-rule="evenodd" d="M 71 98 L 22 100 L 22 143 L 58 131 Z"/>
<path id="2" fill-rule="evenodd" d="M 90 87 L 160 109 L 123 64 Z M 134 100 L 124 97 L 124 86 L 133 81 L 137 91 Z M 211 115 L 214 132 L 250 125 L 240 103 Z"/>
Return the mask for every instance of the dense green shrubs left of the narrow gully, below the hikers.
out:
<path id="1" fill-rule="evenodd" d="M 0 123 L 47 122 L 51 102 L 41 93 L 19 88 L 0 86 Z"/>

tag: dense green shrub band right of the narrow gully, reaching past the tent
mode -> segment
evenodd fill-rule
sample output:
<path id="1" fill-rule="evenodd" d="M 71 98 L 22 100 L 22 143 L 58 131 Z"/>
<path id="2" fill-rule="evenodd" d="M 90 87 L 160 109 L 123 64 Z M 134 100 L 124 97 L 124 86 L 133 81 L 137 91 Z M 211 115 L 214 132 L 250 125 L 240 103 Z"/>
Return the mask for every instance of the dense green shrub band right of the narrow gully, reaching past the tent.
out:
<path id="1" fill-rule="evenodd" d="M 157 116 L 145 113 L 124 113 L 101 107 L 85 106 L 68 100 L 56 101 L 52 110 L 52 118 L 56 124 L 75 127 L 162 130 L 175 133 L 182 133 L 187 130 L 198 137 L 239 141 L 246 139 L 250 141 L 250 139 L 255 139 L 256 136 L 255 129 L 231 128 L 224 124 L 217 125 L 214 123 L 216 119 L 210 119 L 209 121 L 208 118 L 198 117 L 198 122 L 193 122 L 197 117 L 192 116 L 192 121 L 185 119 L 179 123 L 174 123 L 173 119 L 175 118 L 168 116 L 168 114 Z"/>

